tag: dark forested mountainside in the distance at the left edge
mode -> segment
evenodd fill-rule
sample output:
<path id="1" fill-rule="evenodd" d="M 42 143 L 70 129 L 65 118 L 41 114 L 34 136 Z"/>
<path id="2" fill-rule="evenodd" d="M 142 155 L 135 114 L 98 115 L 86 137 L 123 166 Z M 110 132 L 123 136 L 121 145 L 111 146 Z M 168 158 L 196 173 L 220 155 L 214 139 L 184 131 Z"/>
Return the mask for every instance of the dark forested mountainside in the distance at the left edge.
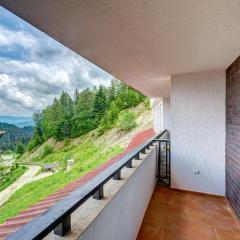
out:
<path id="1" fill-rule="evenodd" d="M 7 132 L 0 138 L 0 150 L 15 150 L 19 142 L 24 145 L 29 143 L 33 137 L 34 127 L 19 128 L 13 124 L 0 122 L 0 131 Z"/>

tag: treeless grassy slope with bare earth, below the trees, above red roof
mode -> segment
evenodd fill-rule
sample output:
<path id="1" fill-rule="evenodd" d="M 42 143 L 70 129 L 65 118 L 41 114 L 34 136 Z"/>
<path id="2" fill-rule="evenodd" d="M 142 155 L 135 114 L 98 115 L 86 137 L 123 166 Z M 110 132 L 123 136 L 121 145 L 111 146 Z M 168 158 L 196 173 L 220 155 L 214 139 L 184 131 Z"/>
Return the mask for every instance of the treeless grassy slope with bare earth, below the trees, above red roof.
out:
<path id="1" fill-rule="evenodd" d="M 137 132 L 151 127 L 151 110 L 147 109 L 144 104 L 139 104 L 139 106 L 129 110 L 135 112 L 138 117 L 138 126 L 129 132 L 122 132 L 114 128 L 104 135 L 96 137 L 93 131 L 80 138 L 72 139 L 66 146 L 64 146 L 63 142 L 57 143 L 53 139 L 49 139 L 45 144 L 50 144 L 54 147 L 53 153 L 44 158 L 39 158 L 45 145 L 43 144 L 34 153 L 24 154 L 20 161 L 26 163 L 60 162 L 64 166 L 66 160 L 70 158 L 74 159 L 76 163 L 74 168 L 68 172 L 60 171 L 47 178 L 29 183 L 19 189 L 0 208 L 0 223 L 39 202 L 49 194 L 58 191 L 80 176 L 85 175 L 101 163 L 117 156 Z"/>

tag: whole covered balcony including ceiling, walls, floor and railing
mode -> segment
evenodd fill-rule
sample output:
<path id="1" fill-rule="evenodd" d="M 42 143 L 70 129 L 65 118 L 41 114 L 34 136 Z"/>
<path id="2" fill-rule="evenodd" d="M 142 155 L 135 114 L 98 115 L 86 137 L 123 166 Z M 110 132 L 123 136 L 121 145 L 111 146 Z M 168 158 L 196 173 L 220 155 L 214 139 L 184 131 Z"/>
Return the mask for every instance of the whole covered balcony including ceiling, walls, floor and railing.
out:
<path id="1" fill-rule="evenodd" d="M 90 2 L 0 0 L 153 97 L 156 135 L 9 239 L 239 240 L 240 3 Z"/>

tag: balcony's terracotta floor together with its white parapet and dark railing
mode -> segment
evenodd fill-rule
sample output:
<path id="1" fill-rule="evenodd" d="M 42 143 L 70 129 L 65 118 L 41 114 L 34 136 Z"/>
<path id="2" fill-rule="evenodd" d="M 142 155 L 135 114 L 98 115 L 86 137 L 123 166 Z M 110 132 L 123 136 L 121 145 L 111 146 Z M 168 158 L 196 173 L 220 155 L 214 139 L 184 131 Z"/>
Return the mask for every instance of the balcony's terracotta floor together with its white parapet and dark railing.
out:
<path id="1" fill-rule="evenodd" d="M 8 239 L 239 239 L 224 197 L 169 188 L 166 136 L 134 148 Z"/>

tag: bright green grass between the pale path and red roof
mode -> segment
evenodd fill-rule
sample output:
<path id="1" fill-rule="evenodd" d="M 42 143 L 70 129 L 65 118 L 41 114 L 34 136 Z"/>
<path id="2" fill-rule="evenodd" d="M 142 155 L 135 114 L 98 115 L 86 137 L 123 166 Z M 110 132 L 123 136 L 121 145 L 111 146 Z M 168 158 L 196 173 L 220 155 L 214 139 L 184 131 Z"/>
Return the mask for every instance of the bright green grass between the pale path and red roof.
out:
<path id="1" fill-rule="evenodd" d="M 20 211 L 58 191 L 120 152 L 122 149 L 119 146 L 96 146 L 91 141 L 85 141 L 80 145 L 64 147 L 58 152 L 45 156 L 41 162 L 61 162 L 64 165 L 68 158 L 72 158 L 75 160 L 75 165 L 67 172 L 61 170 L 52 176 L 29 183 L 16 191 L 0 208 L 0 223 L 16 216 Z"/>

